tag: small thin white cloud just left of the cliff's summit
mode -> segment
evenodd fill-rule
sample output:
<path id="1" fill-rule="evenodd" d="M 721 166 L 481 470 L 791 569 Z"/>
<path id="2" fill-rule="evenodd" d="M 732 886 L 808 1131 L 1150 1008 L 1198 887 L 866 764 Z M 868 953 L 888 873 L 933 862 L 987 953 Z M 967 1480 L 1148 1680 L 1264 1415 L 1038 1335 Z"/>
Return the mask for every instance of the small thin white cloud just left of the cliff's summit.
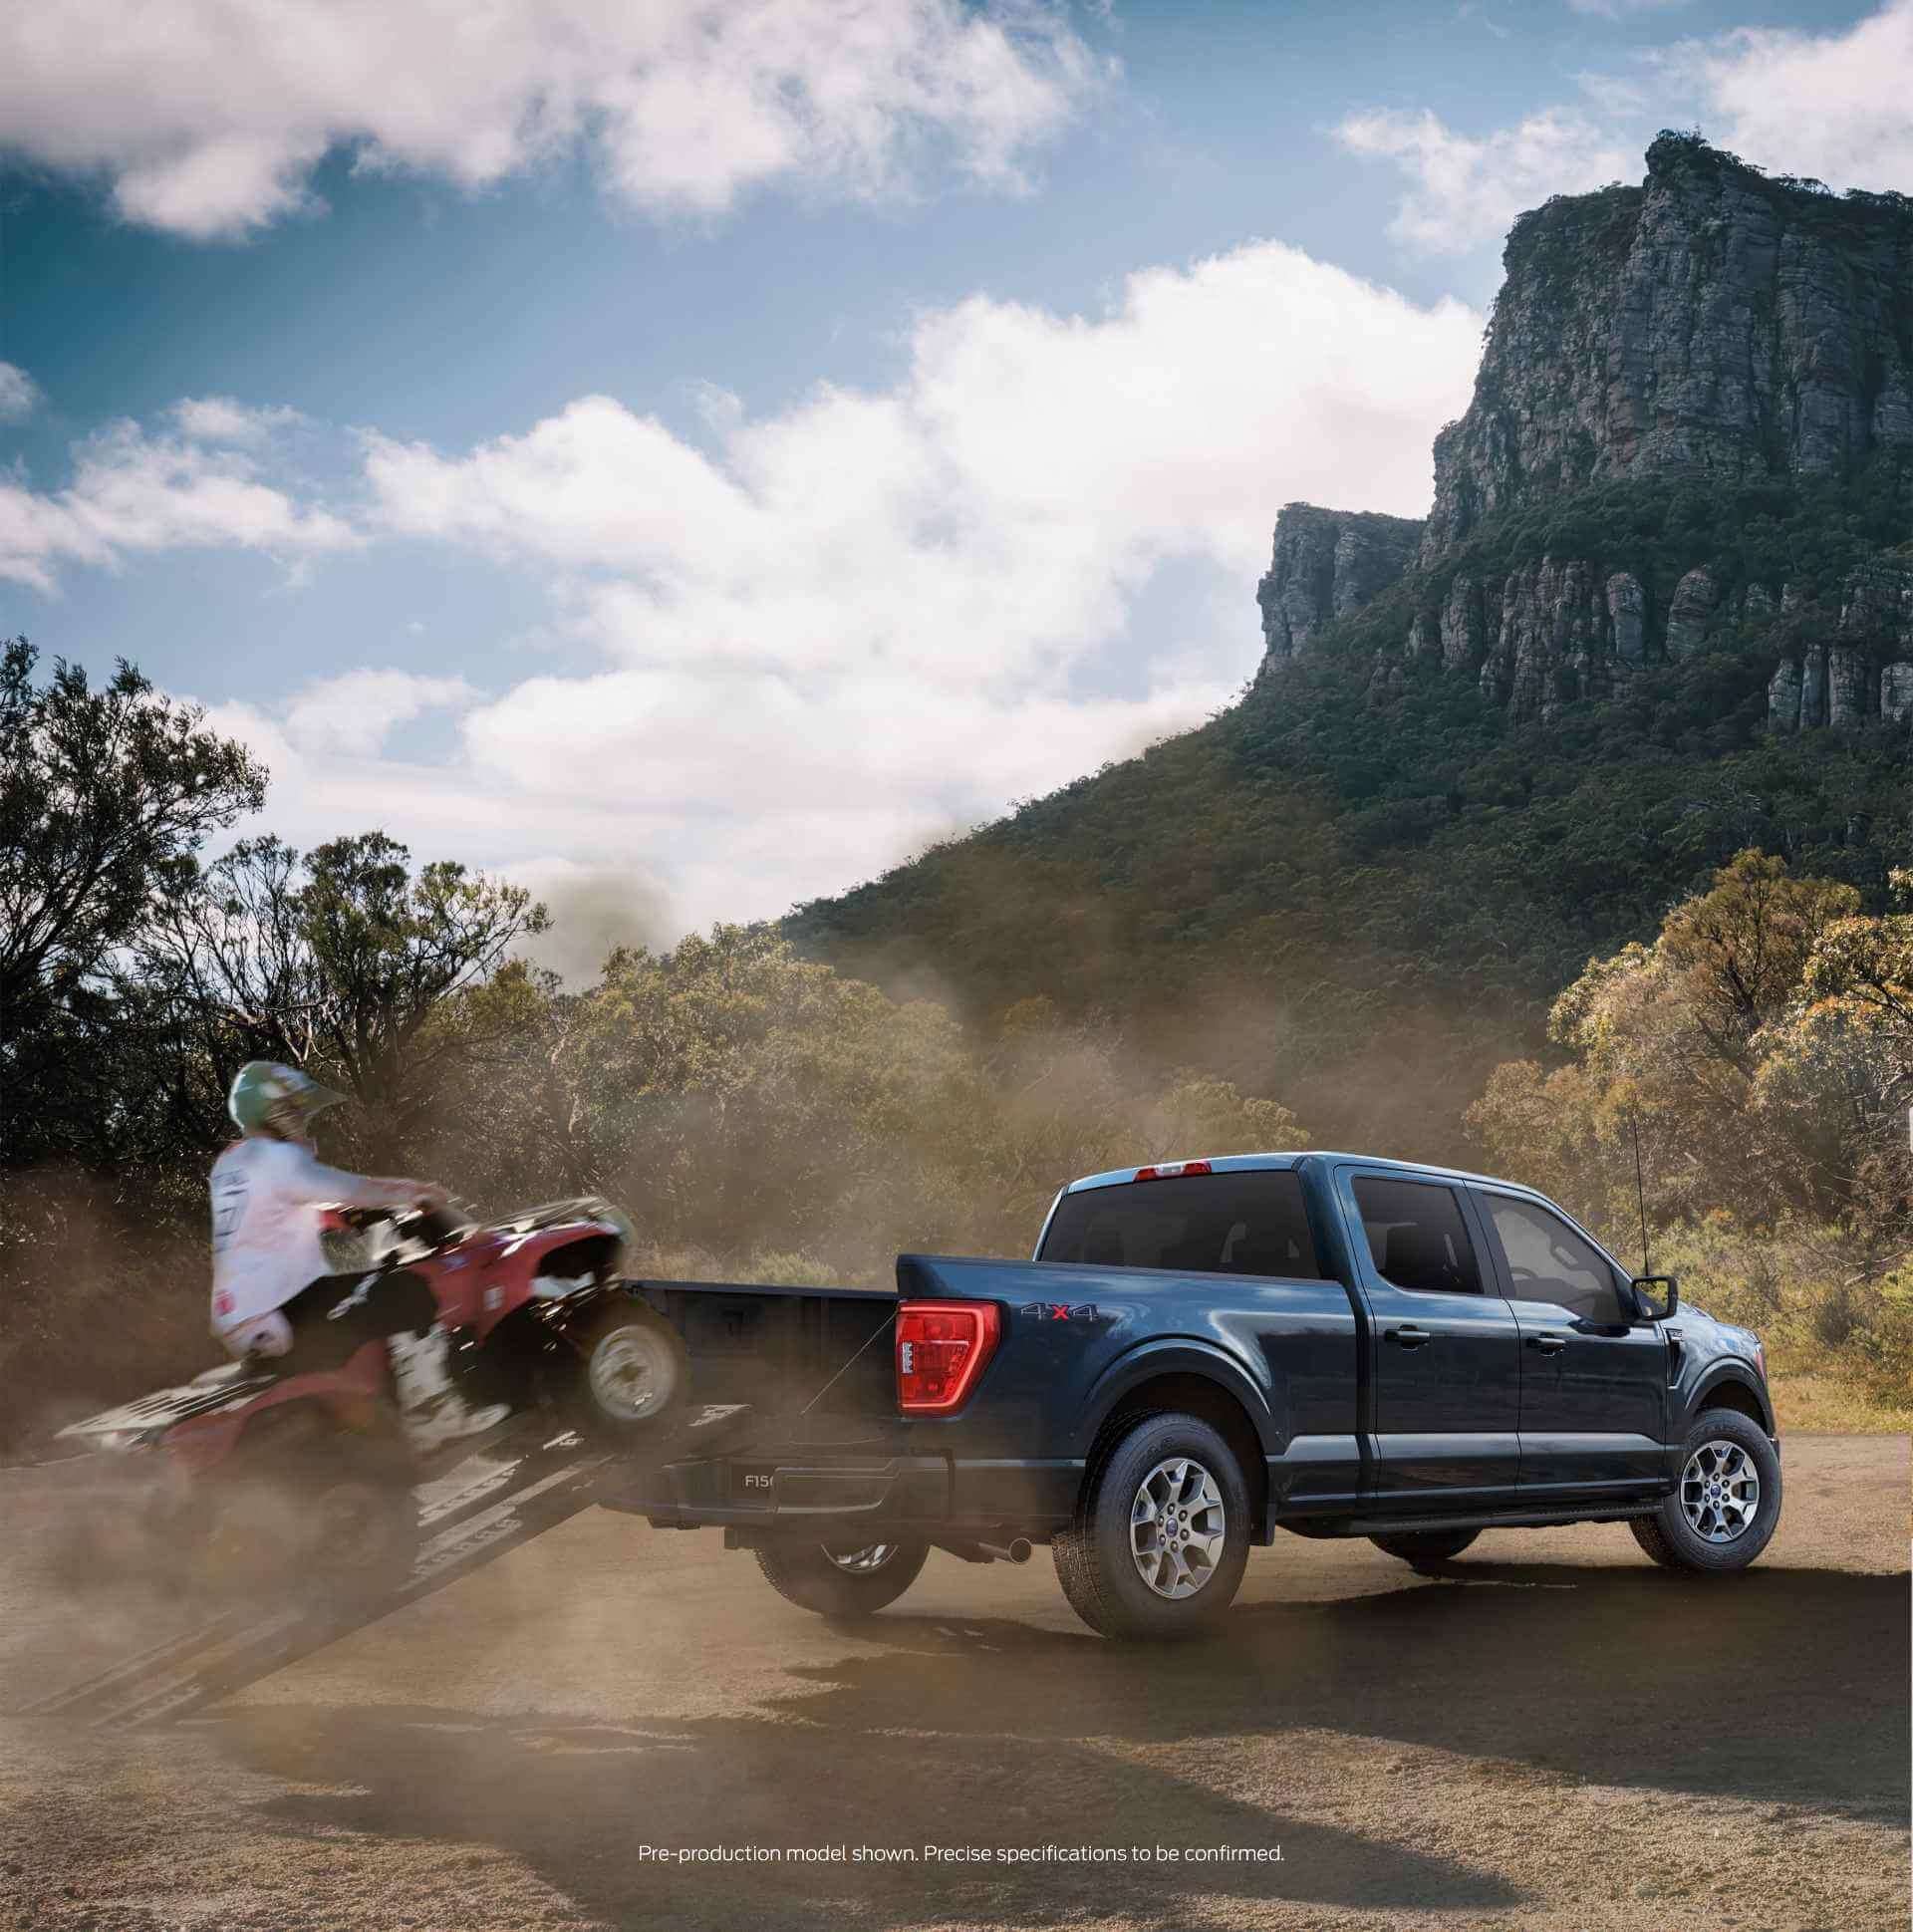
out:
<path id="1" fill-rule="evenodd" d="M 1585 193 L 1641 168 L 1629 143 L 1569 108 L 1544 108 L 1478 139 L 1455 133 L 1428 108 L 1374 110 L 1343 120 L 1335 139 L 1407 176 L 1389 234 L 1443 255 L 1499 242 L 1517 214 L 1550 195 Z"/>

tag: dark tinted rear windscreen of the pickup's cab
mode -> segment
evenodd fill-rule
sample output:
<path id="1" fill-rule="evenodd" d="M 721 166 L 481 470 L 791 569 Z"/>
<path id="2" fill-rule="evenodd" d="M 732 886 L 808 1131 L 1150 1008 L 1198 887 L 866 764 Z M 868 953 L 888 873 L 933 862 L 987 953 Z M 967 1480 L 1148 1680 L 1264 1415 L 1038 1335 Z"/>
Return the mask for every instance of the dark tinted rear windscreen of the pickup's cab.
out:
<path id="1" fill-rule="evenodd" d="M 1302 1177 L 1271 1169 L 1177 1175 L 1065 1194 L 1040 1260 L 1322 1279 L 1302 1208 Z"/>

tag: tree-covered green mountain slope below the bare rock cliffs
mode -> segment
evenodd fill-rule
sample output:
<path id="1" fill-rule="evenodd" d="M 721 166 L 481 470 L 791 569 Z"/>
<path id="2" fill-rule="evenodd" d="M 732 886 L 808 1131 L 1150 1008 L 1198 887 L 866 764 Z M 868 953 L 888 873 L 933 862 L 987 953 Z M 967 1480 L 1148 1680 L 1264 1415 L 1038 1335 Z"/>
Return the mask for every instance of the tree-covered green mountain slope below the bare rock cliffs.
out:
<path id="1" fill-rule="evenodd" d="M 1625 524 L 1658 574 L 1718 554 L 1733 512 L 1654 485 L 1559 508 Z M 1801 493 L 1780 524 L 1838 553 L 1886 518 L 1855 485 Z M 1157 1051 L 1281 1094 L 1322 1136 L 1453 1153 L 1486 1068 L 1540 1041 L 1588 956 L 1650 937 L 1743 846 L 1872 904 L 1913 858 L 1907 723 L 1770 730 L 1776 624 L 1722 626 L 1613 699 L 1521 719 L 1438 667 L 1376 684 L 1418 593 L 1405 582 L 1328 626 L 1206 728 L 786 931 L 978 1016 L 1036 991 L 1119 1012 Z"/>

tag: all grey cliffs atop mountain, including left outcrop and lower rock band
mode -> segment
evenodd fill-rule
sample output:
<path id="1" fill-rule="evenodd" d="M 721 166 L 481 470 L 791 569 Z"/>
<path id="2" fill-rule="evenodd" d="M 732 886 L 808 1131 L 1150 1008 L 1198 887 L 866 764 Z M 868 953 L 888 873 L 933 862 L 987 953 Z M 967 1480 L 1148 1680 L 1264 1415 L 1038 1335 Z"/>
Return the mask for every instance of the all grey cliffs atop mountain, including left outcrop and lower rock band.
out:
<path id="1" fill-rule="evenodd" d="M 1378 688 L 1443 670 L 1548 719 L 1733 647 L 1776 730 L 1913 717 L 1913 201 L 1662 135 L 1505 265 L 1426 526 L 1281 512 L 1264 672 L 1409 576 Z"/>

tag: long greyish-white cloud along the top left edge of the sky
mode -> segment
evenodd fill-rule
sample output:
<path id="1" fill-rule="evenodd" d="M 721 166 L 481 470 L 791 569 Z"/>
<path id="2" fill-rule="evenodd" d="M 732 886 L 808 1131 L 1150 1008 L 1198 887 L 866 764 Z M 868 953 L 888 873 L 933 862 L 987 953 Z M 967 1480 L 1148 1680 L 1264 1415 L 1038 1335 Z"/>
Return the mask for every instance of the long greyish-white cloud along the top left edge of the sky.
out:
<path id="1" fill-rule="evenodd" d="M 60 0 L 0 10 L 0 149 L 240 236 L 332 149 L 485 187 L 568 151 L 657 213 L 875 195 L 926 147 L 1014 185 L 1099 79 L 1053 0 Z"/>

